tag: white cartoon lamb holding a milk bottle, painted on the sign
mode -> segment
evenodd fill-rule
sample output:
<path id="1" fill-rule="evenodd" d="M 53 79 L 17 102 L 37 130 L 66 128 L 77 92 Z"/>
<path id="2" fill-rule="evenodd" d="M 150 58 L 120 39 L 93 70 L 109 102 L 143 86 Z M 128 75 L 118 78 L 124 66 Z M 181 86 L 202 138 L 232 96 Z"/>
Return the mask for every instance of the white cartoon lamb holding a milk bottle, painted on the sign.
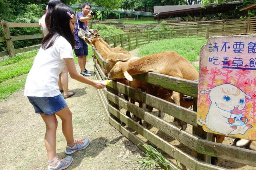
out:
<path id="1" fill-rule="evenodd" d="M 199 122 L 208 129 L 224 135 L 244 134 L 252 125 L 246 124 L 247 118 L 242 116 L 245 99 L 251 96 L 245 94 L 240 88 L 226 83 L 208 90 L 200 91 L 209 94 L 211 104 L 205 121 L 201 117 Z"/>

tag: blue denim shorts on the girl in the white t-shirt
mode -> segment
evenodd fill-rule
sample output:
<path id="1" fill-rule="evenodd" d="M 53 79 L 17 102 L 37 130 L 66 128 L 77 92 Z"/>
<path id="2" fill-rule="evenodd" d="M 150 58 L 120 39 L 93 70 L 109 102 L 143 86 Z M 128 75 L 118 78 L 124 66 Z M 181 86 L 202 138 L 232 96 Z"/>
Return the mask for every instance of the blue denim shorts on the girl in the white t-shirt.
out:
<path id="1" fill-rule="evenodd" d="M 67 102 L 61 94 L 54 97 L 28 96 L 28 100 L 33 105 L 36 113 L 44 113 L 45 115 L 56 113 L 67 106 Z"/>

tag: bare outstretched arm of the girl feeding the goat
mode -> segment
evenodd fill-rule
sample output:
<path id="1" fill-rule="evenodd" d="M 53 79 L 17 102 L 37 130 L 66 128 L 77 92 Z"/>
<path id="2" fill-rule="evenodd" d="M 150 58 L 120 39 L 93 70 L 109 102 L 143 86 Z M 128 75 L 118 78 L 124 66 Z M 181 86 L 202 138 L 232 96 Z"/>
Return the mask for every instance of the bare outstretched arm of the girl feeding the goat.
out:
<path id="1" fill-rule="evenodd" d="M 74 63 L 74 59 L 65 58 L 64 60 L 66 62 L 68 72 L 69 72 L 71 78 L 73 78 L 73 79 L 75 79 L 79 82 L 86 83 L 86 84 L 89 84 L 91 86 L 94 86 L 94 88 L 97 88 L 97 89 L 102 89 L 106 86 L 106 84 L 104 84 L 104 82 L 102 82 L 100 80 L 91 80 L 91 79 L 86 78 L 86 77 L 82 76 L 81 74 L 79 74 L 76 71 L 76 66 L 75 66 L 75 63 Z"/>

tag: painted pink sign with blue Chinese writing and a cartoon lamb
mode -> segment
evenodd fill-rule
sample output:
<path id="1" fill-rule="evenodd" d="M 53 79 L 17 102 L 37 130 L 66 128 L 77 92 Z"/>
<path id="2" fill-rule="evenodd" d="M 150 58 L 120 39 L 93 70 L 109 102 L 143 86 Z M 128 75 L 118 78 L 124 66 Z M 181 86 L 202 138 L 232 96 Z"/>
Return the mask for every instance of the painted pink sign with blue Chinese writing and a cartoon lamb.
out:
<path id="1" fill-rule="evenodd" d="M 202 47 L 197 123 L 256 140 L 256 35 L 212 37 Z"/>

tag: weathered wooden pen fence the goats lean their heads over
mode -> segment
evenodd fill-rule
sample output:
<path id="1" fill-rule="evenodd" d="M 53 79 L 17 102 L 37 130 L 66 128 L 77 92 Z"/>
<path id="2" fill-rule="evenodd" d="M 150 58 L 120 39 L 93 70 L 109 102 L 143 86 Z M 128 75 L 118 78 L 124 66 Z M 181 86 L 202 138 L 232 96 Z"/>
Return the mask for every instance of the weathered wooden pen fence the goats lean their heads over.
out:
<path id="1" fill-rule="evenodd" d="M 159 32 L 160 33 L 160 32 Z M 117 35 L 120 39 L 124 39 L 124 36 L 130 35 L 123 34 Z M 148 36 L 147 33 L 134 34 L 134 45 L 137 47 L 141 39 L 153 39 L 151 36 Z M 157 34 L 159 35 L 159 34 Z M 116 38 L 117 38 L 116 37 Z M 122 38 L 123 37 L 123 38 Z M 159 35 L 160 37 L 160 35 Z M 120 44 L 115 43 L 115 37 L 106 37 L 108 43 L 109 39 L 113 39 L 114 47 L 124 45 L 124 41 L 121 41 Z M 129 39 L 129 38 L 128 38 Z M 154 38 L 155 39 L 155 38 Z M 129 41 L 129 40 L 128 40 Z M 131 40 L 130 40 L 131 41 Z M 147 43 L 148 41 L 146 41 Z M 129 43 L 131 44 L 131 42 Z M 131 49 L 132 45 L 128 45 L 127 48 Z M 102 71 L 100 63 L 106 69 L 106 61 L 100 56 L 98 51 L 92 47 L 94 53 L 94 71 L 95 76 L 98 80 L 106 80 L 107 77 Z M 98 62 L 97 62 L 97 61 Z M 126 86 L 122 83 L 112 81 L 107 88 L 103 90 L 97 90 L 100 100 L 106 111 L 108 121 L 113 125 L 120 133 L 132 141 L 135 145 L 139 143 L 144 143 L 141 138 L 136 136 L 133 131 L 136 131 L 137 134 L 142 135 L 156 147 L 164 151 L 168 156 L 171 156 L 173 159 L 178 160 L 181 164 L 189 168 L 190 170 L 220 170 L 225 169 L 219 166 L 214 166 L 210 164 L 211 156 L 218 158 L 223 158 L 227 161 L 238 162 L 239 164 L 247 164 L 250 166 L 256 166 L 256 151 L 242 149 L 230 145 L 224 145 L 220 143 L 214 143 L 211 141 L 212 134 L 205 133 L 202 128 L 196 123 L 196 108 L 197 108 L 197 94 L 198 94 L 198 82 L 184 80 L 180 78 L 175 78 L 172 76 L 167 76 L 163 74 L 158 74 L 154 72 L 148 72 L 146 74 L 139 74 L 133 76 L 136 79 L 143 80 L 145 82 L 174 90 L 194 98 L 194 110 L 186 109 L 181 106 L 177 106 L 173 103 L 167 102 L 145 92 L 140 92 L 130 86 Z M 152 115 L 151 113 L 144 111 L 144 109 L 124 100 L 119 97 L 118 91 L 126 94 L 137 101 L 143 102 L 149 106 L 152 106 L 164 113 L 176 117 L 182 121 L 187 122 L 192 125 L 192 133 L 187 131 L 180 131 L 178 127 L 165 121 L 159 117 Z M 134 115 L 140 117 L 144 121 L 150 123 L 155 128 L 162 131 L 165 135 L 172 137 L 185 145 L 188 149 L 192 150 L 192 154 L 182 151 L 178 147 L 170 144 L 168 141 L 162 138 L 162 136 L 149 131 L 143 126 L 139 125 L 137 122 L 133 121 L 127 117 L 124 113 L 125 111 L 120 111 L 119 108 L 122 107 L 125 110 L 130 111 Z M 123 127 L 120 124 L 120 121 L 126 123 L 128 127 Z M 208 140 L 206 140 L 206 137 Z M 138 146 L 140 149 L 144 150 L 142 146 Z M 177 169 L 174 163 L 169 162 L 174 169 Z"/>

